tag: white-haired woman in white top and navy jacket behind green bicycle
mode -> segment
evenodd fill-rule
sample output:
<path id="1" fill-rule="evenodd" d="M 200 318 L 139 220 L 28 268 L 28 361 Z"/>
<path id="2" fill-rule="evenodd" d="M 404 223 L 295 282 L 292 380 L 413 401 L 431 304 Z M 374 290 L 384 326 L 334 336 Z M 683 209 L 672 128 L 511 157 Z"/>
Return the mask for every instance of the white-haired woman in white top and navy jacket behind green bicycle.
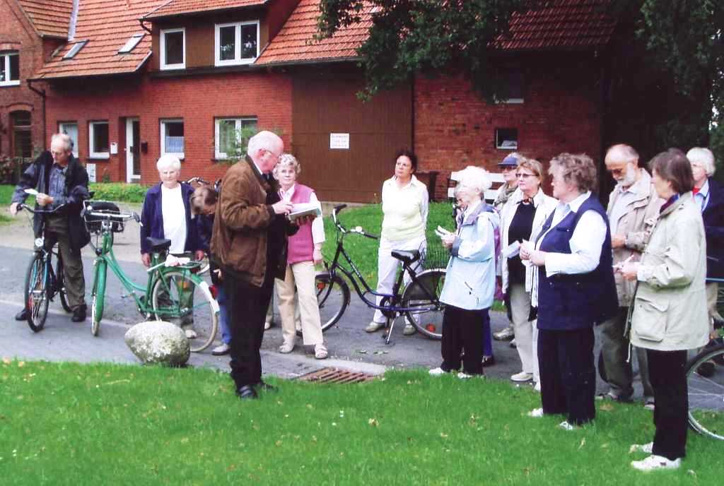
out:
<path id="1" fill-rule="evenodd" d="M 151 265 L 151 243 L 148 237 L 170 239 L 169 253 L 192 252 L 196 260 L 203 258 L 203 248 L 196 225 L 191 222 L 190 197 L 193 187 L 179 182 L 181 161 L 175 155 L 161 155 L 156 162 L 161 182 L 148 189 L 140 216 L 140 256 L 143 265 Z M 188 323 L 191 325 L 192 323 Z M 193 328 L 182 323 L 186 337 L 196 337 Z"/>

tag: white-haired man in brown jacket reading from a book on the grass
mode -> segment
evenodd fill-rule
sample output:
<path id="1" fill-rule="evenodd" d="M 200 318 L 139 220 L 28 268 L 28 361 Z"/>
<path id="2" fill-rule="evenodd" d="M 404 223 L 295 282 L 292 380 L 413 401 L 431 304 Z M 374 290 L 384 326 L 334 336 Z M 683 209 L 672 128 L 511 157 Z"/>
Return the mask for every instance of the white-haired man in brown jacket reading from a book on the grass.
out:
<path id="1" fill-rule="evenodd" d="M 251 137 L 247 157 L 222 180 L 211 234 L 211 257 L 222 272 L 231 331 L 231 378 L 239 398 L 257 397 L 261 380 L 264 316 L 274 291 L 274 277 L 284 278 L 287 234 L 296 231 L 285 215 L 292 204 L 279 198 L 271 171 L 284 151 L 271 132 Z"/>

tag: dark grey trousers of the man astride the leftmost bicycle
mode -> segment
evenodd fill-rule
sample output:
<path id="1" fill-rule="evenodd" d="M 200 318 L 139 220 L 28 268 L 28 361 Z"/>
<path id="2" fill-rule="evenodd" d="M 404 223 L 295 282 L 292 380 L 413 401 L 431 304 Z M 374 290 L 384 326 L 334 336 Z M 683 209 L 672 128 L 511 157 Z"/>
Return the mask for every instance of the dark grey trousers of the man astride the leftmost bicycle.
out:
<path id="1" fill-rule="evenodd" d="M 68 304 L 72 309 L 85 305 L 85 277 L 80 250 L 70 249 L 70 235 L 66 216 L 48 216 L 46 219 L 46 248 L 58 242 L 58 251 L 63 260 L 63 277 Z"/>

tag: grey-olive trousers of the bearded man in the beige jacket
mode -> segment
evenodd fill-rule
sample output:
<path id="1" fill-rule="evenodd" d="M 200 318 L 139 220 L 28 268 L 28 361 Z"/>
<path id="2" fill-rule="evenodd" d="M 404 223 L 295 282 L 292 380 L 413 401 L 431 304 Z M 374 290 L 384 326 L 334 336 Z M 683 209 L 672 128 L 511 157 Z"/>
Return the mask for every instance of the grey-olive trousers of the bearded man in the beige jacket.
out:
<path id="1" fill-rule="evenodd" d="M 600 325 L 601 352 L 603 364 L 606 368 L 606 377 L 611 387 L 610 393 L 623 399 L 633 395 L 633 372 L 628 358 L 628 338 L 623 336 L 626 330 L 626 317 L 628 307 L 619 307 L 618 314 Z M 649 382 L 649 366 L 646 349 L 633 348 L 639 361 L 639 375 L 644 386 L 644 398 L 654 396 L 654 390 Z M 632 357 L 633 358 L 633 357 Z"/>

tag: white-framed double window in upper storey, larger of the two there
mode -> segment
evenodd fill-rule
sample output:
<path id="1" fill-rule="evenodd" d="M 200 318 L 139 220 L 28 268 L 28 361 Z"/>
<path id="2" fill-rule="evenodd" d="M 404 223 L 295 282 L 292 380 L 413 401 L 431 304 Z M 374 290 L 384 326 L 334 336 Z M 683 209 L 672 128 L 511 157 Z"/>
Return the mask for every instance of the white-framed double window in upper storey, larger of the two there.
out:
<path id="1" fill-rule="evenodd" d="M 259 22 L 216 24 L 216 66 L 251 64 L 259 55 Z"/>

